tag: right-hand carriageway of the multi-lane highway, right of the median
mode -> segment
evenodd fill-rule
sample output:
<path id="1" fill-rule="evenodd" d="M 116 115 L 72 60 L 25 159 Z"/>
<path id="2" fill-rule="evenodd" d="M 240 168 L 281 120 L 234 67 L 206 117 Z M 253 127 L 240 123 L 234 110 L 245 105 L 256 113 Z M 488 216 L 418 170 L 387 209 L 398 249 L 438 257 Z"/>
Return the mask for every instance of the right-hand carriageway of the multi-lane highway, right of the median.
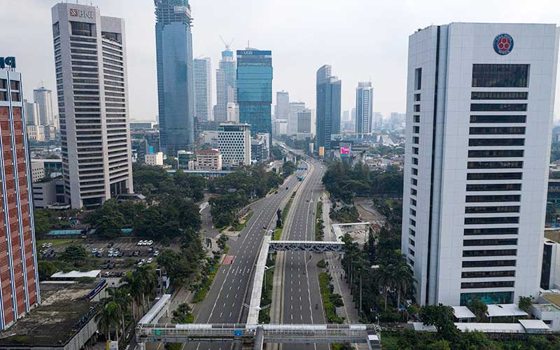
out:
<path id="1" fill-rule="evenodd" d="M 286 220 L 288 232 L 283 239 L 315 240 L 315 207 L 323 193 L 321 179 L 324 169 L 321 162 L 310 160 L 303 163 L 308 165 L 308 171 L 305 172 L 307 174 L 304 174 L 307 178 L 304 179 L 290 208 L 290 215 Z M 323 254 L 286 252 L 283 260 L 281 323 L 325 323 L 316 267 L 316 263 L 322 257 Z M 309 349 L 309 346 L 290 345 L 290 349 L 292 348 Z"/>

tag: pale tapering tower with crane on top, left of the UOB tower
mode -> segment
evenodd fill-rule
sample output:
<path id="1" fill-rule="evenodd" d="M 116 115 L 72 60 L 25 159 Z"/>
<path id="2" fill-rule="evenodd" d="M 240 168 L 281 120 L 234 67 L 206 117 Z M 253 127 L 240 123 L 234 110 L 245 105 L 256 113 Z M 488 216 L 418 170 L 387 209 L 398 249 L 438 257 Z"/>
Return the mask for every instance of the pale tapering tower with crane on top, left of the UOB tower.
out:
<path id="1" fill-rule="evenodd" d="M 214 121 L 224 123 L 228 120 L 228 104 L 237 104 L 237 65 L 229 46 L 222 51 L 216 71 L 216 106 Z"/>

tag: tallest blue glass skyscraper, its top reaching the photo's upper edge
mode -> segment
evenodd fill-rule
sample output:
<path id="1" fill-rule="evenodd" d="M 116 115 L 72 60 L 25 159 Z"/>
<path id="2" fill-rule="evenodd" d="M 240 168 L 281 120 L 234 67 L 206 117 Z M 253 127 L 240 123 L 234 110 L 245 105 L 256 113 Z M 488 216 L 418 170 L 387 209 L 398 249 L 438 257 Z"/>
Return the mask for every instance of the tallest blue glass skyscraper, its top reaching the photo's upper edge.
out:
<path id="1" fill-rule="evenodd" d="M 154 0 L 158 106 L 162 151 L 175 155 L 195 145 L 193 36 L 188 0 Z"/>

